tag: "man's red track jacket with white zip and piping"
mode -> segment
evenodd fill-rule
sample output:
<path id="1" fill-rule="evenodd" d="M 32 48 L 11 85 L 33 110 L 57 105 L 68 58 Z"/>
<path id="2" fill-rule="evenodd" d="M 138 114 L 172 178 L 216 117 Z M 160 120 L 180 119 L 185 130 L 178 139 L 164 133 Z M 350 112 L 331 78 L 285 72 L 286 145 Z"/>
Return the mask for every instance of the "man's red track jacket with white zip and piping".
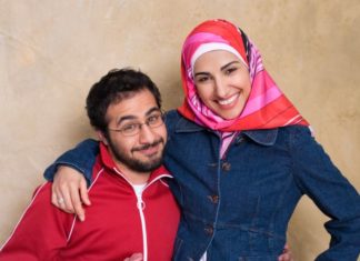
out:
<path id="1" fill-rule="evenodd" d="M 51 183 L 34 193 L 14 231 L 0 251 L 0 260 L 123 260 L 141 252 L 143 260 L 171 260 L 179 209 L 163 168 L 150 175 L 142 194 L 117 170 L 100 147 L 89 189 L 91 207 L 80 222 L 53 207 Z"/>

